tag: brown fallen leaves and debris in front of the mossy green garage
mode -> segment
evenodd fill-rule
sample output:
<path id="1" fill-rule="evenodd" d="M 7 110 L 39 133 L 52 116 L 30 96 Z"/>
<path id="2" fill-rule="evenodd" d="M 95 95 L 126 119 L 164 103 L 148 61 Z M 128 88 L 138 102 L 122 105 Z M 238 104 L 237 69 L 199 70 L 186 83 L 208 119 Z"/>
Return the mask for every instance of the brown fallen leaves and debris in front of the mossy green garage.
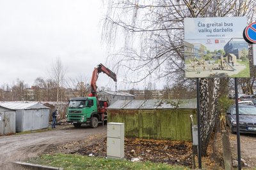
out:
<path id="1" fill-rule="evenodd" d="M 79 148 L 81 155 L 106 157 L 106 142 L 93 143 Z M 192 147 L 189 142 L 167 141 L 154 139 L 125 138 L 125 159 L 135 161 L 163 162 L 191 166 Z"/>

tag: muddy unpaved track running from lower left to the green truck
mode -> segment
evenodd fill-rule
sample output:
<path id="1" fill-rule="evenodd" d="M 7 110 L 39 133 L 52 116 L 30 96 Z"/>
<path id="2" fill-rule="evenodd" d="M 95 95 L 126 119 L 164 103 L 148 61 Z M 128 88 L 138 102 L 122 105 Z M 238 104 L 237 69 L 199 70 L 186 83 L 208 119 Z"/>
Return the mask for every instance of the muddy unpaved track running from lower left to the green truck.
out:
<path id="1" fill-rule="evenodd" d="M 95 129 L 90 127 L 75 129 L 69 125 L 57 127 L 53 131 L 0 136 L 0 169 L 11 169 L 8 167 L 10 162 L 36 157 L 49 147 L 84 140 L 95 134 L 106 134 L 106 131 L 106 125 L 104 127 L 100 125 Z"/>

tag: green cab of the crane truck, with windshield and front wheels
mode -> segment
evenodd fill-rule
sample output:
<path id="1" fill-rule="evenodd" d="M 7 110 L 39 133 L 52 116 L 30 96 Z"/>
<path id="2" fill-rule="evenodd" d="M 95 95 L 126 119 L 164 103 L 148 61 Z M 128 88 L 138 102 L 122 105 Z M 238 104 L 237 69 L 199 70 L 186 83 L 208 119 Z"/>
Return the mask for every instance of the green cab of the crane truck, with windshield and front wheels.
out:
<path id="1" fill-rule="evenodd" d="M 105 106 L 100 106 L 100 109 L 106 110 Z M 96 97 L 72 97 L 68 102 L 67 122 L 73 123 L 74 127 L 81 127 L 82 124 L 97 127 L 106 119 L 104 112 L 99 112 Z"/>

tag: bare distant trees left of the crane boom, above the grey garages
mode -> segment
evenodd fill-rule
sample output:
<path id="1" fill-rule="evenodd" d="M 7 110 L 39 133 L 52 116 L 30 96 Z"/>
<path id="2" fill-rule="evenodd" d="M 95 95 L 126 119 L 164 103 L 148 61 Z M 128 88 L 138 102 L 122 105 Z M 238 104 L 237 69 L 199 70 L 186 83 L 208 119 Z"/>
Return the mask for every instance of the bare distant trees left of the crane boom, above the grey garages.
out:
<path id="1" fill-rule="evenodd" d="M 12 85 L 0 85 L 0 101 L 68 101 L 70 97 L 88 95 L 89 87 L 83 82 L 72 88 L 58 87 L 56 81 L 43 78 L 36 78 L 33 86 L 29 87 L 28 83 L 18 79 Z"/>

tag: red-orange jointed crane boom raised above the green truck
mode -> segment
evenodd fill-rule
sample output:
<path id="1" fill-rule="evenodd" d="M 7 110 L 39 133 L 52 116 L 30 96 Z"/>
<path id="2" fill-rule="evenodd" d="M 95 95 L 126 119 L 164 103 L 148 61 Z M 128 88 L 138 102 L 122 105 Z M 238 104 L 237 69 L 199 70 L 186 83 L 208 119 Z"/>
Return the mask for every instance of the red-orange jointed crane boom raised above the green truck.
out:
<path id="1" fill-rule="evenodd" d="M 99 64 L 97 67 L 94 68 L 94 71 L 92 73 L 91 94 L 90 94 L 90 96 L 98 97 L 97 96 L 97 85 L 96 85 L 96 82 L 98 80 L 99 73 L 105 73 L 109 77 L 111 77 L 115 82 L 117 81 L 116 80 L 116 74 L 113 73 L 113 71 L 111 71 L 110 69 L 105 67 L 103 64 Z"/>

